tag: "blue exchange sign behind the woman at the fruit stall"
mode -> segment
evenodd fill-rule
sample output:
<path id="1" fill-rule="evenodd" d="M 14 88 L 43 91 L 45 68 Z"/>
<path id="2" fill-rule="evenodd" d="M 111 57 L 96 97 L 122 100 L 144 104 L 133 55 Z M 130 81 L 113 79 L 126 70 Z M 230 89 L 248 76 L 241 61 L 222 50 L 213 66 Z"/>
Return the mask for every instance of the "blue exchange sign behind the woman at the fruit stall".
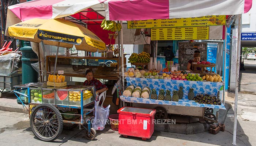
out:
<path id="1" fill-rule="evenodd" d="M 218 43 L 207 43 L 207 61 L 212 64 L 216 64 Z M 211 68 L 206 68 L 211 70 Z M 212 72 L 215 72 L 215 68 L 212 68 Z"/>

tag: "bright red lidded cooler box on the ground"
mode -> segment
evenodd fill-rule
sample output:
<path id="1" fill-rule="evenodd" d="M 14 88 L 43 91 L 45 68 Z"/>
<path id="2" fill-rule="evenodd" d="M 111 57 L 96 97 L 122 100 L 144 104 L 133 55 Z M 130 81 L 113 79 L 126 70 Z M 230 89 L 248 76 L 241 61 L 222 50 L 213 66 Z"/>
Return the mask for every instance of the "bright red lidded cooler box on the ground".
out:
<path id="1" fill-rule="evenodd" d="M 155 109 L 122 107 L 119 114 L 118 133 L 124 137 L 151 138 L 154 132 Z"/>

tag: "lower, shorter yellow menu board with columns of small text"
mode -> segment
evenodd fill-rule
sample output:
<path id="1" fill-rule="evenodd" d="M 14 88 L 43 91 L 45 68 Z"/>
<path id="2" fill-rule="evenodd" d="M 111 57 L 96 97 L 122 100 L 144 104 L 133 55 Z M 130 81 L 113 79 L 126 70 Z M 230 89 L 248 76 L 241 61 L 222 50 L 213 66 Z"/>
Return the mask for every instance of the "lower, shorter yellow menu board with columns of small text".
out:
<path id="1" fill-rule="evenodd" d="M 151 28 L 151 40 L 209 39 L 209 26 Z"/>

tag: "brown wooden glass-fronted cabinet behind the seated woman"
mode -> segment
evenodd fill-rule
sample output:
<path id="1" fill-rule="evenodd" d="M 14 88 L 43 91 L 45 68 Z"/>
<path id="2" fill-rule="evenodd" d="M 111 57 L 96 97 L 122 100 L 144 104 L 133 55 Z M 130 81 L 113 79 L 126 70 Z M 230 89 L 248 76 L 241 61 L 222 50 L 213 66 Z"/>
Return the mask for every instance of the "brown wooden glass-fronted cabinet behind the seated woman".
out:
<path id="1" fill-rule="evenodd" d="M 47 72 L 53 73 L 55 57 L 46 56 Z M 126 58 L 124 58 L 124 62 L 126 62 Z M 118 80 L 120 67 L 118 58 L 58 56 L 56 70 L 63 70 L 63 75 L 84 77 L 85 71 L 92 69 L 95 78 Z M 126 65 L 124 67 L 126 68 Z"/>

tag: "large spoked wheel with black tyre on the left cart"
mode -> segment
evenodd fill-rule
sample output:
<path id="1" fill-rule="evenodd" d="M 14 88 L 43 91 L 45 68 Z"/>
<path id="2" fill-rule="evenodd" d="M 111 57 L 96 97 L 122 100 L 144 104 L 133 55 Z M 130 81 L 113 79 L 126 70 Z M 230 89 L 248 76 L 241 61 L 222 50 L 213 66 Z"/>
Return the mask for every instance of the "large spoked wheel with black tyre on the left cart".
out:
<path id="1" fill-rule="evenodd" d="M 30 115 L 30 127 L 41 141 L 54 141 L 63 128 L 63 119 L 59 110 L 51 104 L 37 105 Z"/>

